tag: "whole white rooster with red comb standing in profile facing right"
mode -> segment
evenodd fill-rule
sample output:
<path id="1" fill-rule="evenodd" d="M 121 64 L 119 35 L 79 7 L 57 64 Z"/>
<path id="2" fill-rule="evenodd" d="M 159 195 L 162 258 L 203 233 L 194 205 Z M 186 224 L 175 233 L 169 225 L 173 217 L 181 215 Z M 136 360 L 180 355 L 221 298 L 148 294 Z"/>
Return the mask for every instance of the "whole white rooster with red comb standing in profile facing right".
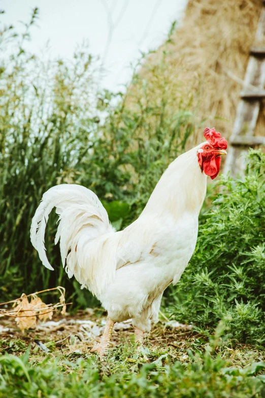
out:
<path id="1" fill-rule="evenodd" d="M 136 340 L 142 341 L 157 321 L 163 291 L 176 284 L 197 240 L 198 215 L 206 195 L 207 175 L 215 178 L 227 142 L 205 129 L 206 142 L 179 156 L 158 181 L 141 216 L 115 232 L 97 196 L 79 185 L 50 188 L 36 210 L 30 229 L 33 246 L 45 267 L 44 234 L 53 207 L 59 215 L 63 266 L 89 289 L 108 311 L 101 344 L 103 355 L 115 322 L 132 318 Z"/>

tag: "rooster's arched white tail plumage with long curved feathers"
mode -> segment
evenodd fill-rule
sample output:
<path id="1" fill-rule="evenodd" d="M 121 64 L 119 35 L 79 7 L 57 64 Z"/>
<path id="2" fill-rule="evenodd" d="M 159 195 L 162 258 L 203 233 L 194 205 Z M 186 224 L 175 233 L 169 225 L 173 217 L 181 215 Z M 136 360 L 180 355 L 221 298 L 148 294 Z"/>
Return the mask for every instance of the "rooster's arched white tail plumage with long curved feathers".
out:
<path id="1" fill-rule="evenodd" d="M 65 265 L 65 260 L 67 263 L 65 270 L 82 287 L 100 294 L 114 279 L 119 239 L 106 209 L 92 191 L 79 185 L 62 184 L 45 192 L 32 219 L 30 239 L 43 265 L 49 269 L 53 267 L 46 256 L 44 235 L 53 207 L 59 215 L 55 244 L 60 239 L 62 264 Z"/>

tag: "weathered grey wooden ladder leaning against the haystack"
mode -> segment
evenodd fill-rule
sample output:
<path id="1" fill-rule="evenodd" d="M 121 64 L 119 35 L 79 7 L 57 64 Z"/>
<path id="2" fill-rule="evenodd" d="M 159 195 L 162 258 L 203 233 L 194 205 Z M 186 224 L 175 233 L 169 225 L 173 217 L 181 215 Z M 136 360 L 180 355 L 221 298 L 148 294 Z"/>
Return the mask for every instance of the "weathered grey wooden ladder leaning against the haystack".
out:
<path id="1" fill-rule="evenodd" d="M 255 42 L 262 45 L 250 48 L 243 90 L 240 93 L 241 100 L 224 166 L 224 174 L 230 172 L 232 177 L 244 174 L 244 158 L 248 148 L 265 144 L 265 136 L 254 136 L 260 100 L 265 98 L 265 1 L 258 21 Z"/>

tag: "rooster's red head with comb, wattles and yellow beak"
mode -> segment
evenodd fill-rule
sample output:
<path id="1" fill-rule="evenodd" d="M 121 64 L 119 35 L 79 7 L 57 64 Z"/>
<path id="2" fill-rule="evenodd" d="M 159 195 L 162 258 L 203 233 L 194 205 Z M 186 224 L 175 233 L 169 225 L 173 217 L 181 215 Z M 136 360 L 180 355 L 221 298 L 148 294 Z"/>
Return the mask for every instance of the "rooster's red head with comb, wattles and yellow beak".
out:
<path id="1" fill-rule="evenodd" d="M 204 136 L 207 142 L 204 142 L 197 151 L 198 163 L 202 171 L 213 179 L 219 173 L 221 155 L 226 155 L 227 141 L 215 129 L 205 129 Z"/>

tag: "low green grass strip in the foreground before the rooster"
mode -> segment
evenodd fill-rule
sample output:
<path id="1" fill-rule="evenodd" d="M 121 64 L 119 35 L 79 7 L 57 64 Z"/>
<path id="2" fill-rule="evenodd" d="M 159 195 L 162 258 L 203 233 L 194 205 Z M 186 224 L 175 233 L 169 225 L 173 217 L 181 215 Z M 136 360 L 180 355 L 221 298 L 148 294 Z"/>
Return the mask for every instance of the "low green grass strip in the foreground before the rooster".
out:
<path id="1" fill-rule="evenodd" d="M 218 332 L 196 353 L 177 358 L 178 349 L 144 347 L 123 341 L 104 361 L 88 352 L 0 358 L 0 396 L 21 397 L 263 397 L 265 362 L 236 366 L 225 358 Z M 218 353 L 218 348 L 222 347 Z"/>

